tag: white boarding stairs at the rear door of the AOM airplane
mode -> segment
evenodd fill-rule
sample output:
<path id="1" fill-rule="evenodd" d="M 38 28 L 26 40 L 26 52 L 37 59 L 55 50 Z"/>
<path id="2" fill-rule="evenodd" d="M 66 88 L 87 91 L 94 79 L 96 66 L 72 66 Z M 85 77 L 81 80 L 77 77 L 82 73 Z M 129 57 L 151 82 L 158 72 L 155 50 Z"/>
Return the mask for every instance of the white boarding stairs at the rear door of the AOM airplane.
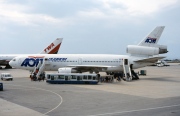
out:
<path id="1" fill-rule="evenodd" d="M 126 81 L 132 80 L 131 68 L 128 59 L 123 59 L 123 71 Z"/>

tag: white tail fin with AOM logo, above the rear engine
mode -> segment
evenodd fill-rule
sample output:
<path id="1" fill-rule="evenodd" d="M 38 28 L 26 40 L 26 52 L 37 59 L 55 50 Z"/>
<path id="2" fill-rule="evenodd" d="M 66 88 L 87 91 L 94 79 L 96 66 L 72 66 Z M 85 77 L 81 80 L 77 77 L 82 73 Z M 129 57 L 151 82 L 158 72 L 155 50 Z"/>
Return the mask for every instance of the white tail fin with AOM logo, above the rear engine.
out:
<path id="1" fill-rule="evenodd" d="M 164 30 L 165 26 L 157 26 L 151 33 L 148 34 L 139 44 L 138 46 L 150 46 L 154 47 Z"/>

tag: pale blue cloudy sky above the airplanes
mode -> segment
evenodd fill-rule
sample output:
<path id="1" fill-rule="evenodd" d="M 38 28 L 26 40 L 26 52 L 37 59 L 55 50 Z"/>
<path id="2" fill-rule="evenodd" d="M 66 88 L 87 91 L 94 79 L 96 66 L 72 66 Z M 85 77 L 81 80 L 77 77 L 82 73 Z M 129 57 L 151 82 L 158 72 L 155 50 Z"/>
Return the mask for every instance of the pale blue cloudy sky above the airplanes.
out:
<path id="1" fill-rule="evenodd" d="M 168 59 L 180 59 L 180 0 L 0 0 L 0 54 L 125 55 L 156 26 Z"/>

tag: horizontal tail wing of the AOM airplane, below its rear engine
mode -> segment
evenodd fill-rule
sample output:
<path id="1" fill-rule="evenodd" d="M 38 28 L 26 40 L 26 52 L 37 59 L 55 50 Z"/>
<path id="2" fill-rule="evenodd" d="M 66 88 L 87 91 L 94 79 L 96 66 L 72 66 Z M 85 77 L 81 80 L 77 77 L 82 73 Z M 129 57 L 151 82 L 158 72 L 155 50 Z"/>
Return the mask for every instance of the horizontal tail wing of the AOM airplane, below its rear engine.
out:
<path id="1" fill-rule="evenodd" d="M 165 58 L 164 56 L 159 56 L 159 57 L 151 57 L 151 58 L 144 58 L 144 59 L 140 59 L 140 60 L 136 60 L 134 62 L 149 62 L 149 63 L 155 63 L 160 59 Z"/>

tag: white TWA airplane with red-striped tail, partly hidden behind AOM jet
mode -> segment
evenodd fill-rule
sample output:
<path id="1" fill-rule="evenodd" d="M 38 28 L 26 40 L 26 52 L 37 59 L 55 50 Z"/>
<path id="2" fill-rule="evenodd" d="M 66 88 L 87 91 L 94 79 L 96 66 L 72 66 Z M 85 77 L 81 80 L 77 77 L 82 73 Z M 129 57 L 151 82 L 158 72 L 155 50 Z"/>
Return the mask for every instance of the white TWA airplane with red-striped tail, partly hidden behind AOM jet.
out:
<path id="1" fill-rule="evenodd" d="M 44 48 L 40 54 L 57 54 L 62 43 L 62 38 L 57 38 L 50 45 Z M 0 54 L 0 65 L 6 66 L 5 68 L 12 68 L 9 65 L 9 61 L 17 56 L 28 55 L 28 54 Z M 2 68 L 2 67 L 0 67 Z"/>

